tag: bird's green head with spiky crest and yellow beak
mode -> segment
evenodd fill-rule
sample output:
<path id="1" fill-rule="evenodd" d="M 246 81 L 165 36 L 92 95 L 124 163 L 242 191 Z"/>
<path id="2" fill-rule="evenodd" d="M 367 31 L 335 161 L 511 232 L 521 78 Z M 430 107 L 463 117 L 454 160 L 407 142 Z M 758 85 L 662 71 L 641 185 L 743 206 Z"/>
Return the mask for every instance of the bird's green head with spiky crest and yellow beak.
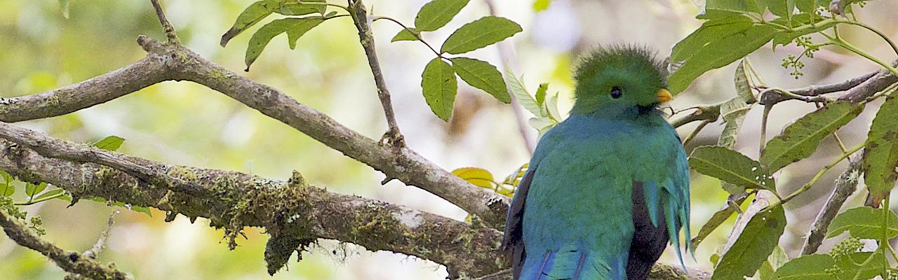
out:
<path id="1" fill-rule="evenodd" d="M 583 57 L 574 73 L 577 101 L 572 114 L 600 110 L 655 111 L 671 100 L 664 65 L 648 48 L 598 48 Z"/>

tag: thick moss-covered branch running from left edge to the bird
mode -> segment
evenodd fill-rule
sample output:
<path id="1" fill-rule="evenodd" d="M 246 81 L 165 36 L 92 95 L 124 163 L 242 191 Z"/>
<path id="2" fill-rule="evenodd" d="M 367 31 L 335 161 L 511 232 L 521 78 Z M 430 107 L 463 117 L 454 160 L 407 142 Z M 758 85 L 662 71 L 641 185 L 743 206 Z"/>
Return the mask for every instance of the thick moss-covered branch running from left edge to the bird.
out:
<path id="1" fill-rule="evenodd" d="M 49 138 L 18 129 L 24 130 L 29 139 Z M 269 247 L 272 241 L 309 238 L 347 241 L 370 250 L 390 250 L 430 259 L 445 265 L 453 276 L 482 276 L 507 267 L 497 251 L 502 232 L 404 206 L 331 193 L 309 186 L 298 173 L 284 182 L 234 171 L 140 161 L 146 168 L 167 170 L 169 176 L 187 180 L 204 189 L 203 193 L 212 194 L 201 197 L 150 183 L 158 179 L 140 179 L 125 171 L 92 162 L 59 159 L 41 151 L 105 153 L 116 158 L 115 161 L 131 160 L 121 153 L 52 138 L 31 146 L 35 149 L 0 139 L 0 170 L 23 180 L 64 188 L 74 201 L 80 197 L 103 197 L 167 211 L 169 220 L 176 214 L 183 214 L 191 221 L 205 217 L 211 225 L 225 230 L 231 246 L 236 245 L 234 239 L 244 226 L 258 226 L 272 235 Z M 295 248 L 287 248 L 287 252 Z M 275 268 L 277 271 L 279 267 Z"/>

